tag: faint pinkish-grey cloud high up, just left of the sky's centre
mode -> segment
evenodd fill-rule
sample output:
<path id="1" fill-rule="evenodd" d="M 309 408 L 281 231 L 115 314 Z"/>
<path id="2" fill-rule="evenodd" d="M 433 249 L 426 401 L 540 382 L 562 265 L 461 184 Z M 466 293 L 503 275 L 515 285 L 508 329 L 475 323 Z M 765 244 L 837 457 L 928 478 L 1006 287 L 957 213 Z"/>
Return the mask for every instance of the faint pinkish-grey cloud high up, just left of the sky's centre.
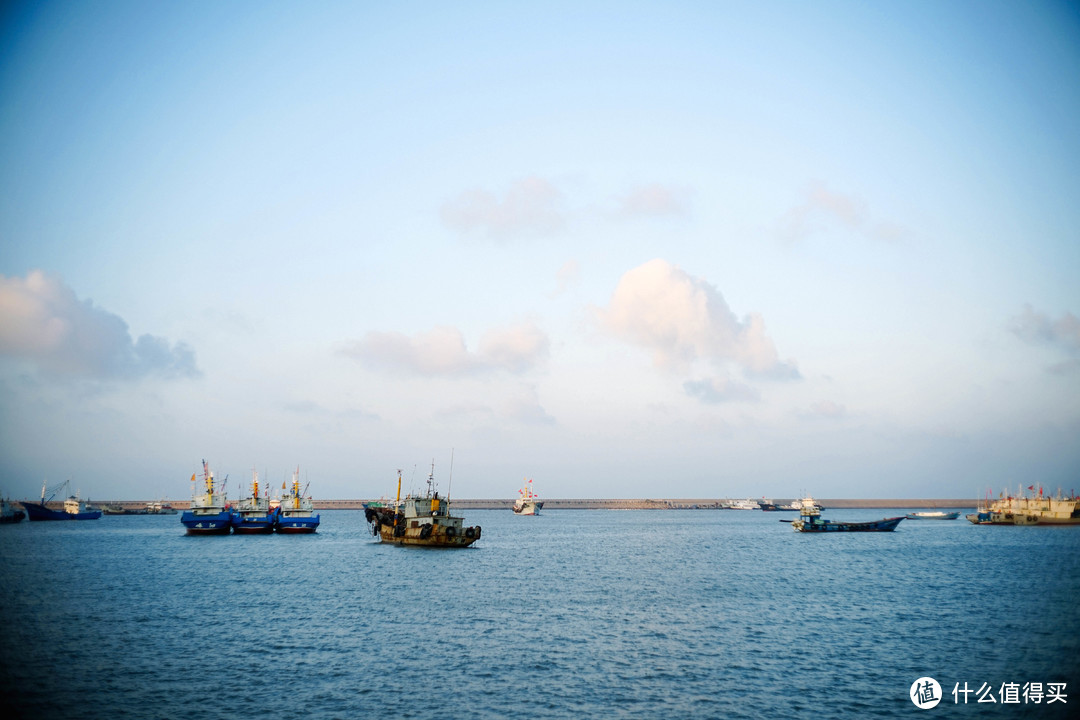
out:
<path id="1" fill-rule="evenodd" d="M 551 234 L 566 225 L 563 193 L 548 180 L 528 177 L 513 184 L 501 200 L 486 190 L 461 193 L 443 205 L 443 223 L 458 232 L 486 232 L 503 239 Z"/>

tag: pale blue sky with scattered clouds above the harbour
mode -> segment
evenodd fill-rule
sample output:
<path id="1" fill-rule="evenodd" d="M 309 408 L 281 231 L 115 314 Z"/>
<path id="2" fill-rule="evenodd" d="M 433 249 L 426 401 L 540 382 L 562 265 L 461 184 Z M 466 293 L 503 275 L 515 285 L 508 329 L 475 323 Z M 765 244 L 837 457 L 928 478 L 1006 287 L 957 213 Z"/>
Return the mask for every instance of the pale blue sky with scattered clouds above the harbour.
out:
<path id="1" fill-rule="evenodd" d="M 14 2 L 0 492 L 1080 489 L 1080 10 Z"/>

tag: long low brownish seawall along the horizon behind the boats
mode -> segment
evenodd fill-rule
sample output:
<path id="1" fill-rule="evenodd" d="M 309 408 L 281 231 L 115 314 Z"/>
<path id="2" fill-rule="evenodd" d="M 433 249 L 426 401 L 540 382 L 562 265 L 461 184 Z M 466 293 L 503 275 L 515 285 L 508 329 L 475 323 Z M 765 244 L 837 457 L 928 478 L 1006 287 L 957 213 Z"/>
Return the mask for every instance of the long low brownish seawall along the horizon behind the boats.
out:
<path id="1" fill-rule="evenodd" d="M 792 502 L 791 498 L 775 498 L 778 504 Z M 314 500 L 316 510 L 363 510 L 367 500 Z M 555 498 L 544 499 L 543 510 L 721 510 L 728 499 L 721 498 L 675 498 L 675 499 L 578 499 L 578 498 Z M 975 507 L 976 501 L 969 499 L 891 499 L 891 500 L 852 500 L 852 499 L 829 499 L 822 498 L 818 502 L 826 508 L 858 508 L 858 507 L 904 507 L 904 508 L 935 508 L 935 510 L 957 510 Z M 139 500 L 105 500 L 95 501 L 94 506 L 103 505 L 120 506 L 124 510 L 141 510 L 146 507 L 147 501 Z M 177 510 L 187 510 L 191 504 L 186 500 L 172 501 L 171 504 Z M 510 510 L 513 499 L 451 499 L 451 504 L 457 510 Z M 56 507 L 63 503 L 50 503 Z"/>

